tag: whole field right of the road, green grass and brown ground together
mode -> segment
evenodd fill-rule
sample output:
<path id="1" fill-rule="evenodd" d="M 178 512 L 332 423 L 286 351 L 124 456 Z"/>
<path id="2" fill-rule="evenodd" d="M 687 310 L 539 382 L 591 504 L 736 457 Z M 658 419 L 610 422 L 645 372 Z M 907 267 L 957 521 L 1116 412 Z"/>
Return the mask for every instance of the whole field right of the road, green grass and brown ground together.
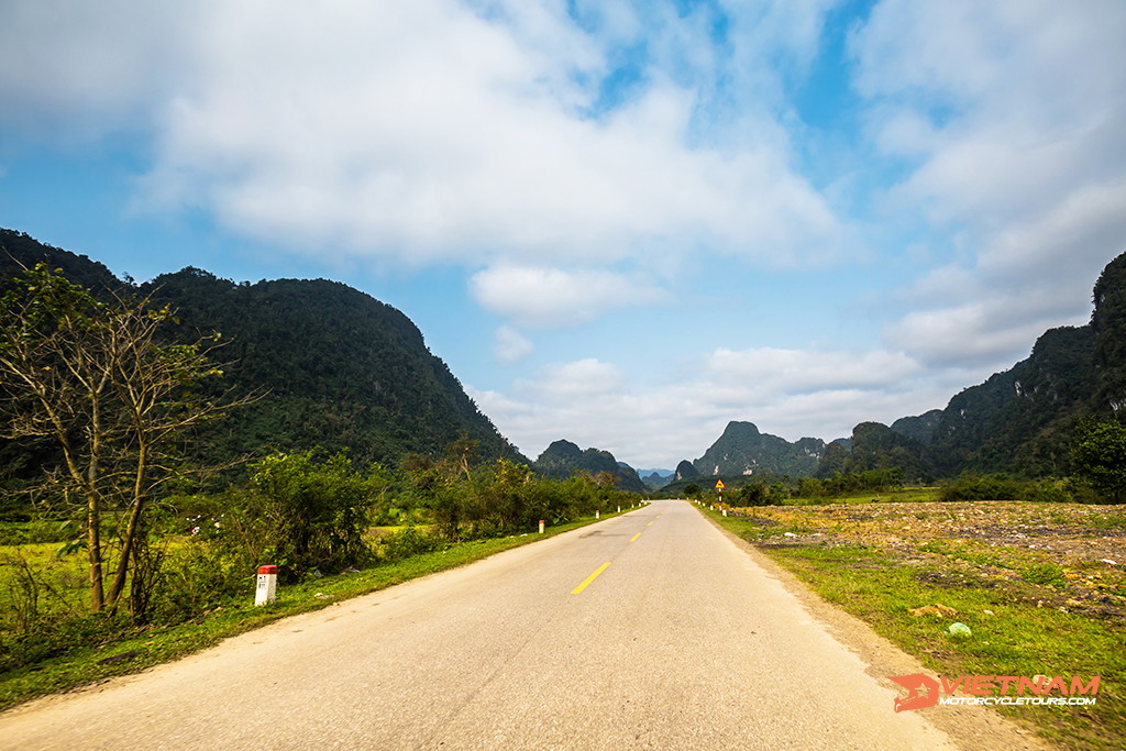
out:
<path id="1" fill-rule="evenodd" d="M 850 500 L 705 511 L 935 676 L 1099 676 L 1096 706 L 999 710 L 1065 748 L 1126 744 L 1126 508 Z"/>

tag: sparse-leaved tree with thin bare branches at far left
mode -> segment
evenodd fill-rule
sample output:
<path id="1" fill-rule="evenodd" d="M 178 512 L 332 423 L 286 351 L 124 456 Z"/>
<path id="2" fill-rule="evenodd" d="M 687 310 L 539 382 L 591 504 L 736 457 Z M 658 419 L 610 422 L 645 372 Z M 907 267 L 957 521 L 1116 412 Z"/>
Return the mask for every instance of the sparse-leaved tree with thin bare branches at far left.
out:
<path id="1" fill-rule="evenodd" d="M 81 499 L 93 610 L 116 609 L 127 583 L 137 592 L 150 584 L 137 579 L 151 573 L 137 566 L 148 552 L 145 510 L 182 474 L 189 429 L 233 405 L 196 392 L 222 375 L 208 360 L 218 334 L 167 343 L 159 331 L 172 319 L 149 298 L 99 301 L 45 263 L 25 269 L 0 301 L 3 435 L 57 444 L 61 466 L 38 490 Z M 117 560 L 107 591 L 110 520 Z"/>

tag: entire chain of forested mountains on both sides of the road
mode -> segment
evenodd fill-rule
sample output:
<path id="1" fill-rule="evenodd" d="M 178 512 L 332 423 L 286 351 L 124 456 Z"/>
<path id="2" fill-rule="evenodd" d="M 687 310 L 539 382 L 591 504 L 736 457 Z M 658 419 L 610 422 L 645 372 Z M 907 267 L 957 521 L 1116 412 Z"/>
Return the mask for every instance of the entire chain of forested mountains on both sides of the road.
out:
<path id="1" fill-rule="evenodd" d="M 967 471 L 1044 476 L 1066 474 L 1079 420 L 1126 410 L 1126 253 L 1096 283 L 1089 324 L 1045 332 L 1027 359 L 964 390 L 942 410 L 891 426 L 861 422 L 850 437 L 829 444 L 789 442 L 732 421 L 701 457 L 674 472 L 644 470 L 644 480 L 608 452 L 566 440 L 529 462 L 477 410 L 405 315 L 346 285 L 234 284 L 188 268 L 134 287 L 86 256 L 0 230 L 0 290 L 20 263 L 41 260 L 96 294 L 132 288 L 171 304 L 180 318 L 175 337 L 224 334 L 230 343 L 223 356 L 234 363 L 224 386 L 267 395 L 203 436 L 212 457 L 320 446 L 394 463 L 409 453 L 439 453 L 465 435 L 477 441 L 480 458 L 511 458 L 547 476 L 608 472 L 619 488 L 638 493 L 694 479 L 829 476 L 890 466 L 912 480 Z M 0 475 L 33 463 L 0 441 Z"/>

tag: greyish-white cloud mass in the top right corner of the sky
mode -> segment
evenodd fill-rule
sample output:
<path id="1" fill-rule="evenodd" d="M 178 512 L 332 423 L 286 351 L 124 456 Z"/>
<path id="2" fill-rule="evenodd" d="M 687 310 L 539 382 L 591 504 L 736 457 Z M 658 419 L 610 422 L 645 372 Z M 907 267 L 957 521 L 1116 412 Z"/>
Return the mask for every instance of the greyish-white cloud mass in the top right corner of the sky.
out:
<path id="1" fill-rule="evenodd" d="M 884 0 L 854 35 L 873 142 L 910 166 L 892 205 L 957 254 L 901 297 L 891 346 L 1007 367 L 1085 320 L 1126 250 L 1124 33 L 1116 0 Z"/>

